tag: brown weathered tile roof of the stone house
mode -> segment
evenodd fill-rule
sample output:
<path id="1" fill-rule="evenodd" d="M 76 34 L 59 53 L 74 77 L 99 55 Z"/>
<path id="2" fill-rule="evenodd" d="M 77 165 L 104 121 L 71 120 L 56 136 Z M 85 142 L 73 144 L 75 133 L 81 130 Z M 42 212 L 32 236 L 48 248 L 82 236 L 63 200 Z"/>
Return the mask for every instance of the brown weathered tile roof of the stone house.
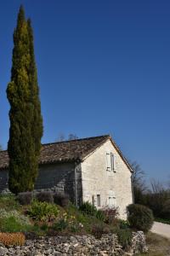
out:
<path id="1" fill-rule="evenodd" d="M 116 146 L 109 135 L 99 137 L 87 137 L 71 141 L 58 143 L 42 144 L 39 164 L 58 163 L 58 162 L 77 162 L 82 161 L 88 154 L 94 152 L 108 139 L 111 140 L 118 154 L 122 157 L 129 170 L 132 172 L 132 167 L 122 155 L 121 150 Z M 8 168 L 8 151 L 0 152 L 0 169 Z"/>

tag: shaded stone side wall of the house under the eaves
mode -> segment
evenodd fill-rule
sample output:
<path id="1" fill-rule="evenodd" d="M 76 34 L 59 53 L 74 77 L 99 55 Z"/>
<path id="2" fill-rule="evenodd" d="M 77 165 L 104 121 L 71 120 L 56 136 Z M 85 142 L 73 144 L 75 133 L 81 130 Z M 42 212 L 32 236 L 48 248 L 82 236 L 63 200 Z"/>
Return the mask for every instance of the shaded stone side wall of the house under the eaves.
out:
<path id="1" fill-rule="evenodd" d="M 77 201 L 81 201 L 80 166 L 77 167 L 77 173 Z M 8 170 L 4 169 L 0 171 L 0 192 L 6 189 L 8 189 Z M 60 163 L 39 166 L 35 189 L 64 191 L 69 195 L 71 201 L 75 203 L 75 164 Z"/>

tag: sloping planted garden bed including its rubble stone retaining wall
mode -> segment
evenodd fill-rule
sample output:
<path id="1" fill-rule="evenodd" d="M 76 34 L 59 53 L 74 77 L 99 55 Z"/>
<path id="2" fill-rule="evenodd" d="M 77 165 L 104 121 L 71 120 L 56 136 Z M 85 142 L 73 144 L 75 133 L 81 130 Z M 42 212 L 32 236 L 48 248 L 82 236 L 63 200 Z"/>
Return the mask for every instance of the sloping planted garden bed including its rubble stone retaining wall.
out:
<path id="1" fill-rule="evenodd" d="M 101 211 L 84 203 L 77 209 L 65 195 L 48 193 L 1 195 L 0 207 L 0 255 L 133 255 L 146 250 L 144 233 L 133 233 L 116 208 Z"/>

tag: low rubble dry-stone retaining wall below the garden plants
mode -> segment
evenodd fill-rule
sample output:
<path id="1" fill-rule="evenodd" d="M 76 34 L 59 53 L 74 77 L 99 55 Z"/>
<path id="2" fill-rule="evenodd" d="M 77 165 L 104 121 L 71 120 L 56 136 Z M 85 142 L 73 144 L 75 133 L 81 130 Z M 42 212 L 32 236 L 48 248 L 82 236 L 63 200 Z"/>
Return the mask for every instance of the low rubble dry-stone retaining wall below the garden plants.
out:
<path id="1" fill-rule="evenodd" d="M 54 236 L 44 237 L 39 240 L 28 240 L 23 247 L 0 246 L 0 255 L 18 256 L 109 256 L 109 255 L 134 255 L 134 253 L 146 252 L 143 232 L 133 233 L 133 244 L 128 252 L 122 250 L 114 234 L 103 235 L 100 239 L 94 236 Z"/>

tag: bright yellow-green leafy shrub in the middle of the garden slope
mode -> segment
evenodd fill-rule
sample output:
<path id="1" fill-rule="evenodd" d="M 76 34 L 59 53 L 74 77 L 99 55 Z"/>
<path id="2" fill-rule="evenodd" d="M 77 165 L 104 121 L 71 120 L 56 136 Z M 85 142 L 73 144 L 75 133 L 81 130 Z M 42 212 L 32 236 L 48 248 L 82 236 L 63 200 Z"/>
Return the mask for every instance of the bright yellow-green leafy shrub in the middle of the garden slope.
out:
<path id="1" fill-rule="evenodd" d="M 57 217 L 59 209 L 48 202 L 33 201 L 27 213 L 36 220 L 50 221 Z"/>

